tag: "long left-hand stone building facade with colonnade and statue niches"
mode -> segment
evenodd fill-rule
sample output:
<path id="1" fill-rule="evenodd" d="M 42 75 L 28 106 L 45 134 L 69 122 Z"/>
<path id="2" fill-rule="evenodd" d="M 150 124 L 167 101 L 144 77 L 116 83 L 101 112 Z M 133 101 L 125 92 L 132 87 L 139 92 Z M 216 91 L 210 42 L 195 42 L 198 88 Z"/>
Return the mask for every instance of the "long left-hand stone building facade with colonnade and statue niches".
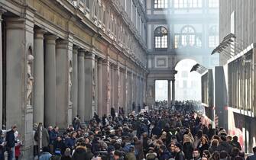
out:
<path id="1" fill-rule="evenodd" d="M 129 2 L 0 1 L 0 125 L 18 126 L 23 159 L 33 123 L 65 129 L 145 101 L 144 3 Z"/>

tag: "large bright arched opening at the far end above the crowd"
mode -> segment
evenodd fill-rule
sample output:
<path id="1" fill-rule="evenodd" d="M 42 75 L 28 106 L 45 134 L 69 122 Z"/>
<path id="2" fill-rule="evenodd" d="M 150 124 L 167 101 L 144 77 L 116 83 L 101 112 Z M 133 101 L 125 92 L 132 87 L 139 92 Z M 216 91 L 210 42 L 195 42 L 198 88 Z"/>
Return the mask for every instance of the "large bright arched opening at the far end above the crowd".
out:
<path id="1" fill-rule="evenodd" d="M 192 59 L 183 59 L 177 63 L 175 70 L 175 97 L 177 101 L 194 100 L 201 101 L 201 75 L 190 72 L 196 65 Z"/>

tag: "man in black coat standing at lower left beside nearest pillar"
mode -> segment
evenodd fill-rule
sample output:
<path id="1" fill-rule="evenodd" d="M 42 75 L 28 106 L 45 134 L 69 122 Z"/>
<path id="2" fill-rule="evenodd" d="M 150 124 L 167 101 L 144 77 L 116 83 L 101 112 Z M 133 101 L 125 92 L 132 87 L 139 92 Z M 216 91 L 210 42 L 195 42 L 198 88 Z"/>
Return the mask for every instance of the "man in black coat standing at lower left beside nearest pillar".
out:
<path id="1" fill-rule="evenodd" d="M 6 133 L 6 147 L 8 152 L 8 160 L 12 160 L 15 152 L 15 132 L 17 131 L 17 126 L 12 126 L 11 130 Z"/>

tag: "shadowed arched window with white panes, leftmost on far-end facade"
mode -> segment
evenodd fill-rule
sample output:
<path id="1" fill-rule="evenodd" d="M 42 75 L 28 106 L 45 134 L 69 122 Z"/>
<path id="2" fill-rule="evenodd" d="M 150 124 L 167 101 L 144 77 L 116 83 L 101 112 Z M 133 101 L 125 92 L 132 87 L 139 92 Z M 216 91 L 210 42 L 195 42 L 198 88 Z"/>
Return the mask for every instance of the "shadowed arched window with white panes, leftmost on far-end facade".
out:
<path id="1" fill-rule="evenodd" d="M 154 30 L 154 47 L 168 47 L 168 31 L 165 27 L 157 27 L 156 30 Z"/>

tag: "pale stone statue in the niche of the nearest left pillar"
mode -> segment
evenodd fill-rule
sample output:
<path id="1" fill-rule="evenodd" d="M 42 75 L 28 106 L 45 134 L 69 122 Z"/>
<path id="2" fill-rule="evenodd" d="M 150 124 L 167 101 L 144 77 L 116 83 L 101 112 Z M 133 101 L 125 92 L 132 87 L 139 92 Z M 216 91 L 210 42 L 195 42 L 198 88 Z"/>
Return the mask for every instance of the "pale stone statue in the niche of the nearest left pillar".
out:
<path id="1" fill-rule="evenodd" d="M 27 104 L 31 105 L 31 97 L 32 97 L 32 91 L 33 91 L 33 82 L 34 77 L 31 73 L 31 65 L 34 60 L 34 56 L 31 54 L 28 55 L 28 61 L 27 61 L 27 72 L 28 72 L 28 79 L 27 79 Z"/>

